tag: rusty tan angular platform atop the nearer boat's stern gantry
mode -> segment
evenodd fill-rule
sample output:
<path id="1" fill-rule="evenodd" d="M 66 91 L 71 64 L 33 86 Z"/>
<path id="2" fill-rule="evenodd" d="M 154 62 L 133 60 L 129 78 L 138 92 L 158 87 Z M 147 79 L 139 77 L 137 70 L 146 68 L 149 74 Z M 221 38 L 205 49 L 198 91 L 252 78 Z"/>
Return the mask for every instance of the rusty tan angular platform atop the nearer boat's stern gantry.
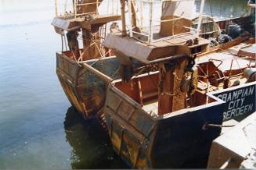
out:
<path id="1" fill-rule="evenodd" d="M 177 37 L 160 38 L 150 44 L 146 44 L 135 38 L 124 37 L 121 34 L 108 34 L 105 41 L 103 41 L 103 46 L 120 52 L 124 57 L 128 56 L 140 62 L 147 63 L 158 58 L 181 55 L 182 53 L 178 53 L 178 48 L 181 47 L 194 48 L 209 43 L 208 40 L 198 37 L 199 44 L 193 44 L 191 46 L 186 45 L 187 41 L 195 38 L 197 38 L 196 35 L 188 33 L 177 35 Z"/>

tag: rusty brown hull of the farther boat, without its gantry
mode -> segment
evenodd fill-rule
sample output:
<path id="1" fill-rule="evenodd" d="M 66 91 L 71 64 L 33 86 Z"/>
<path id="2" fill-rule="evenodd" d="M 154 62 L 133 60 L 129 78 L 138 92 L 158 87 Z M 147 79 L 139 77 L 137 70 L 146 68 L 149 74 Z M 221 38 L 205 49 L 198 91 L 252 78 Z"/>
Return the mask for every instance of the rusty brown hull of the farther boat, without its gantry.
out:
<path id="1" fill-rule="evenodd" d="M 114 58 L 102 59 L 99 62 L 92 59 L 85 63 L 88 63 L 88 65 L 94 63 L 92 66 L 95 69 L 111 76 L 119 66 L 117 59 Z M 56 60 L 56 73 L 70 103 L 85 118 L 96 115 L 103 108 L 107 84 L 96 75 L 89 73 L 83 67 L 82 62 L 80 64 L 75 62 L 67 57 L 64 52 L 57 53 Z"/>

